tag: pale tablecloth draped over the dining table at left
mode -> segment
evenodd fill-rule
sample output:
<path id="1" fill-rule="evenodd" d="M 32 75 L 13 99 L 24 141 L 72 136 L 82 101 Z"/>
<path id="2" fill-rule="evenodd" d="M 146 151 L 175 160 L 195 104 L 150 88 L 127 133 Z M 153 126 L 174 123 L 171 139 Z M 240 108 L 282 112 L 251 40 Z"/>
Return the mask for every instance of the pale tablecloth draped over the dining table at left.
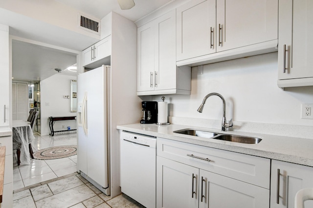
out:
<path id="1" fill-rule="evenodd" d="M 21 163 L 30 164 L 30 155 L 28 144 L 31 143 L 35 136 L 28 121 L 13 121 L 13 141 L 22 143 L 21 147 Z"/>

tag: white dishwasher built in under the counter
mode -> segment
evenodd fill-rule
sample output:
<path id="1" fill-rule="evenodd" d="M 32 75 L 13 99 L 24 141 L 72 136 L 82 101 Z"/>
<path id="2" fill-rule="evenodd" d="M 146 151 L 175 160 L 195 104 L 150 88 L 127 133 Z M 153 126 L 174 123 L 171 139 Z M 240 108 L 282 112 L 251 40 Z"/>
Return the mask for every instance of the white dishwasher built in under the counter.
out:
<path id="1" fill-rule="evenodd" d="M 156 137 L 121 132 L 121 190 L 146 208 L 156 208 Z"/>

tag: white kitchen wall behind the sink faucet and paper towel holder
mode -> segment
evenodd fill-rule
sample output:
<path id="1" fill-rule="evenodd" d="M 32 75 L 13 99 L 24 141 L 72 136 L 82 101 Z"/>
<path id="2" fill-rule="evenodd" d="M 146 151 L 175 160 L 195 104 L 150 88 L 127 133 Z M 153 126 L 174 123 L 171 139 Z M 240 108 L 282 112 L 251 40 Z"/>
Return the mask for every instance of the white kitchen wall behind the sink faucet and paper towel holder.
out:
<path id="1" fill-rule="evenodd" d="M 220 93 L 226 100 L 226 118 L 234 121 L 313 126 L 301 119 L 301 104 L 313 103 L 313 86 L 277 87 L 277 53 L 229 60 L 192 68 L 191 95 L 165 95 L 169 115 L 188 118 L 222 119 L 222 101 L 209 97 L 198 113 L 205 95 Z M 154 101 L 161 101 L 155 96 Z"/>

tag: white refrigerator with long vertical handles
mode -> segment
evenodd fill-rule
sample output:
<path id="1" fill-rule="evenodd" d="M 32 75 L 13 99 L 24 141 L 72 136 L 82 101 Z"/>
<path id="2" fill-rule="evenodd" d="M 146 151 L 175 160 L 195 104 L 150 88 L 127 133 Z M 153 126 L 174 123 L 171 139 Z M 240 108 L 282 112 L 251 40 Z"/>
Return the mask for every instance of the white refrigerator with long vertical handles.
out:
<path id="1" fill-rule="evenodd" d="M 81 175 L 110 195 L 108 138 L 110 137 L 111 67 L 78 75 L 78 169 Z"/>

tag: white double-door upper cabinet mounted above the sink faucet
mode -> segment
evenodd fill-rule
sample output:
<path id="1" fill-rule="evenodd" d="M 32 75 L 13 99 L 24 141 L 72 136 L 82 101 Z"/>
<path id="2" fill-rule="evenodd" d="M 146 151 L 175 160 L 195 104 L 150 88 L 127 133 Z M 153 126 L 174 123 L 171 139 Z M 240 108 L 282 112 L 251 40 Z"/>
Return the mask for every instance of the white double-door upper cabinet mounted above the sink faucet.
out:
<path id="1" fill-rule="evenodd" d="M 277 51 L 278 0 L 192 0 L 177 8 L 177 65 Z"/>

